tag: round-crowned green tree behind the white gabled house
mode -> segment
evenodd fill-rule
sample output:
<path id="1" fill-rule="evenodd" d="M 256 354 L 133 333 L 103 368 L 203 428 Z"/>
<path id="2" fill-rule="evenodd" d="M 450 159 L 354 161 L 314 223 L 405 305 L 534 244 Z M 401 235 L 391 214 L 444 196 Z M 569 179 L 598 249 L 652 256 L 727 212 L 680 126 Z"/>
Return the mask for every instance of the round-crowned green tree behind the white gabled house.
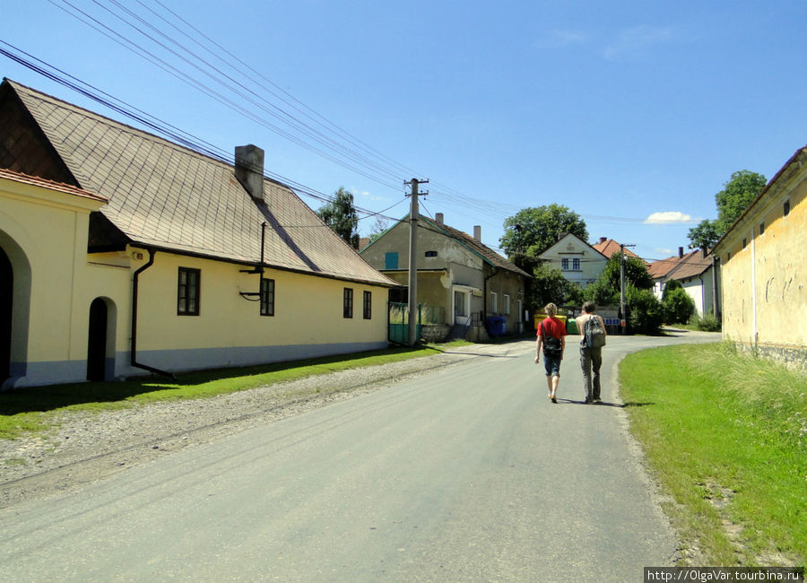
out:
<path id="1" fill-rule="evenodd" d="M 562 233 L 588 240 L 586 222 L 562 204 L 525 208 L 504 222 L 499 245 L 508 257 L 525 254 L 538 257 L 558 242 Z"/>

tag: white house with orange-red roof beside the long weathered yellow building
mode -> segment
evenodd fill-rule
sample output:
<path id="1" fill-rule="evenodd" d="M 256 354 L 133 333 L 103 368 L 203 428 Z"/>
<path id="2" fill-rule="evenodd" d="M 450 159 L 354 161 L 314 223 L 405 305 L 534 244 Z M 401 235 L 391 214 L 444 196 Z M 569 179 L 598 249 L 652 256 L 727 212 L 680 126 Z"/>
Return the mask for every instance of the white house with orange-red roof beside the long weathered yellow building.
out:
<path id="1" fill-rule="evenodd" d="M 702 249 L 684 254 L 683 248 L 678 248 L 678 257 L 654 261 L 647 266 L 647 271 L 653 278 L 653 292 L 659 300 L 662 299 L 666 283 L 674 280 L 681 283 L 681 287 L 692 298 L 699 316 L 708 312 L 717 313 L 712 257 L 705 255 Z"/>

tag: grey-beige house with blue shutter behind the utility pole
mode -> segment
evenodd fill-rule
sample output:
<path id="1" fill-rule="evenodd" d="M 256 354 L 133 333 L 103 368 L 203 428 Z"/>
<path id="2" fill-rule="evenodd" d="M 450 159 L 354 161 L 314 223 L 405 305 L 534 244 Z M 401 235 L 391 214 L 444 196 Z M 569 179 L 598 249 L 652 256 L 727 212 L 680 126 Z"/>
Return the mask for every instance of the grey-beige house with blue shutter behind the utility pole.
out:
<path id="1" fill-rule="evenodd" d="M 443 214 L 421 216 L 418 232 L 418 302 L 429 306 L 438 324 L 463 334 L 504 318 L 505 330 L 517 332 L 525 322 L 525 271 L 473 237 L 449 227 Z M 402 285 L 409 278 L 409 217 L 397 222 L 361 251 L 370 265 Z"/>

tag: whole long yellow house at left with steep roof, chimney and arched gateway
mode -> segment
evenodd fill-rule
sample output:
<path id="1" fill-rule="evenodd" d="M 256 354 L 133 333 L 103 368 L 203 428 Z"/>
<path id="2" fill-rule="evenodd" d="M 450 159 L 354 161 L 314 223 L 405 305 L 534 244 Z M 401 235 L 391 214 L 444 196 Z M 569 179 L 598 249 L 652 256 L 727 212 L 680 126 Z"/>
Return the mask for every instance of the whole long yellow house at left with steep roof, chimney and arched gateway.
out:
<path id="1" fill-rule="evenodd" d="M 282 183 L 5 80 L 0 384 L 386 347 L 388 290 Z"/>

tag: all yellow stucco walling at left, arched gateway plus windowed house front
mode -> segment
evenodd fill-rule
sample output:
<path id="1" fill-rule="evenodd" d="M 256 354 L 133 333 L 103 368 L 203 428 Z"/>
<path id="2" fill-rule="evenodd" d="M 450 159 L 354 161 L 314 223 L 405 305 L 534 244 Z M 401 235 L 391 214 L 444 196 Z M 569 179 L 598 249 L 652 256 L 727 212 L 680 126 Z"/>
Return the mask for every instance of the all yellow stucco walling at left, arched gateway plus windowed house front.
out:
<path id="1" fill-rule="evenodd" d="M 134 272 L 149 253 L 129 247 L 87 253 L 89 216 L 103 203 L 0 178 L 0 247 L 13 266 L 11 379 L 25 387 L 87 378 L 91 303 L 108 311 L 108 378 L 143 374 L 130 366 Z M 178 316 L 178 267 L 201 271 L 198 316 Z M 157 251 L 140 275 L 137 361 L 189 370 L 286 361 L 386 346 L 387 288 L 267 269 L 275 315 L 260 315 L 259 276 L 245 265 Z M 353 290 L 343 318 L 343 290 Z M 371 318 L 364 318 L 364 292 Z"/>

